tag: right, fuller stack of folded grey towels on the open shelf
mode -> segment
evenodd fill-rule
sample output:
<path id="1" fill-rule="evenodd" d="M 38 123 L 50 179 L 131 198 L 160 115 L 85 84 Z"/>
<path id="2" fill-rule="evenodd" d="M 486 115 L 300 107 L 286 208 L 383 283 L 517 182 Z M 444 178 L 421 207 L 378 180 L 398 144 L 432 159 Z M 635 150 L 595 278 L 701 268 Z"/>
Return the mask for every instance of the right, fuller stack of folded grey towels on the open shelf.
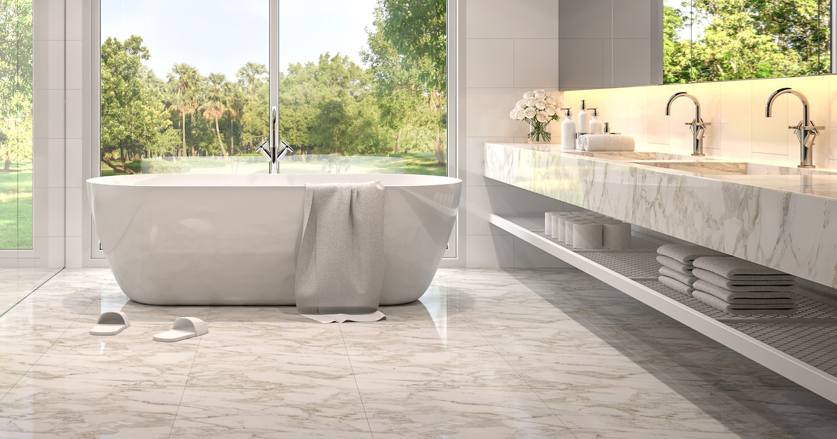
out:
<path id="1" fill-rule="evenodd" d="M 729 314 L 790 315 L 796 309 L 796 278 L 732 256 L 696 258 L 692 296 Z"/>

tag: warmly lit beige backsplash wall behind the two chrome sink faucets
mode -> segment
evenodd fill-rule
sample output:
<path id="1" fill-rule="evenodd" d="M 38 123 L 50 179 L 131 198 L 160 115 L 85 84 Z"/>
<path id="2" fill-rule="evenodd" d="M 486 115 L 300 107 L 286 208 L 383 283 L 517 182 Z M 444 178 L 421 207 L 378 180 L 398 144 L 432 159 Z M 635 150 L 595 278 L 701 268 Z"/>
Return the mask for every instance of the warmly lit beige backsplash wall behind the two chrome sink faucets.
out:
<path id="1" fill-rule="evenodd" d="M 780 96 L 773 117 L 764 116 L 768 96 L 783 87 L 804 93 L 810 119 L 826 127 L 814 144 L 814 165 L 837 168 L 837 75 L 574 90 L 564 92 L 563 101 L 578 109 L 586 100 L 612 130 L 634 135 L 639 149 L 691 154 L 691 132 L 684 123 L 692 120 L 694 105 L 676 100 L 665 116 L 671 94 L 686 91 L 701 101 L 701 117 L 712 124 L 704 138 L 707 156 L 796 166 L 799 142 L 788 125 L 802 119 L 799 100 Z"/>

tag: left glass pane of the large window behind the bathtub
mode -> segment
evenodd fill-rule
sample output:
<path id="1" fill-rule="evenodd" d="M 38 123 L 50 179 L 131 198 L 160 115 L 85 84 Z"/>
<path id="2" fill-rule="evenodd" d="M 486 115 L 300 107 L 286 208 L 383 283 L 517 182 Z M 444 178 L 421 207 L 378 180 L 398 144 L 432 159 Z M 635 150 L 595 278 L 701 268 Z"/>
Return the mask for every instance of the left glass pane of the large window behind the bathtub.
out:
<path id="1" fill-rule="evenodd" d="M 270 0 L 100 3 L 101 175 L 264 172 Z"/>

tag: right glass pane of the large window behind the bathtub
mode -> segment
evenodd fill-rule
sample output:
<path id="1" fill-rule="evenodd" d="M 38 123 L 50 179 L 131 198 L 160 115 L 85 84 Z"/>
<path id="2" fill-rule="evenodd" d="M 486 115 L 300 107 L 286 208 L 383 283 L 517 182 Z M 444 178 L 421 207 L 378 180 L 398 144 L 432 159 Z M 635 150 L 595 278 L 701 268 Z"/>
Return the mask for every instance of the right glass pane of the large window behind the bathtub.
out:
<path id="1" fill-rule="evenodd" d="M 280 171 L 447 175 L 445 0 L 280 0 Z"/>

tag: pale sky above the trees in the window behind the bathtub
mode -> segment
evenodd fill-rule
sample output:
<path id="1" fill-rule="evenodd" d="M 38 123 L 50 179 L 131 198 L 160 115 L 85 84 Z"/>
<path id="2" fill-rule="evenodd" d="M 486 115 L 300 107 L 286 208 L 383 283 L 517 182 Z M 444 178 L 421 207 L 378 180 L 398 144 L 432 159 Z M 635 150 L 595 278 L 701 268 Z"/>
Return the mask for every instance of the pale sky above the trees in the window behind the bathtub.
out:
<path id="1" fill-rule="evenodd" d="M 362 64 L 366 28 L 377 0 L 279 0 L 280 69 L 340 53 Z M 234 7 L 231 8 L 231 5 Z M 248 61 L 270 59 L 270 0 L 105 0 L 101 40 L 139 35 L 151 53 L 144 63 L 165 79 L 175 63 L 203 75 L 235 79 Z"/>

